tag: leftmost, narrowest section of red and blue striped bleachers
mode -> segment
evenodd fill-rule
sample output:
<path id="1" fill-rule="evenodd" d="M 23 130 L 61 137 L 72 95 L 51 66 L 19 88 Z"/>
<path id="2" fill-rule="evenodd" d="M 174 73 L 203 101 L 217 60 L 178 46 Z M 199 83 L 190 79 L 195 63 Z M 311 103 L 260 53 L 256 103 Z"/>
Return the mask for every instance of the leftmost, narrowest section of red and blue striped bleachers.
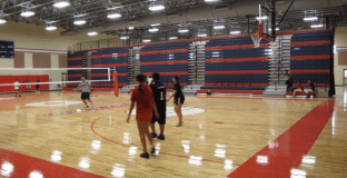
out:
<path id="1" fill-rule="evenodd" d="M 68 53 L 68 68 L 82 68 L 82 58 L 86 52 L 73 52 Z M 82 70 L 68 70 L 68 81 L 80 81 L 82 76 Z M 78 83 L 68 83 L 67 87 L 72 89 L 77 87 Z"/>

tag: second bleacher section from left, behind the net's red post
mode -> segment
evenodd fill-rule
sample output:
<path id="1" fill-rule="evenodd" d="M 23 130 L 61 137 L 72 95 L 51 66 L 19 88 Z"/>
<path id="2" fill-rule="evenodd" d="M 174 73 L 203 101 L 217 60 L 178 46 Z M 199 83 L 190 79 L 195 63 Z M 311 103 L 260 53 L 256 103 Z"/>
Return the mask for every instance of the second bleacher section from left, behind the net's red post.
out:
<path id="1" fill-rule="evenodd" d="M 101 49 L 92 52 L 91 55 L 91 67 L 92 68 L 115 68 L 118 73 L 118 86 L 127 86 L 127 65 L 128 65 L 128 51 L 129 47 Z M 93 69 L 91 70 L 91 80 L 108 80 L 108 70 Z M 112 80 L 112 76 L 111 76 Z M 113 82 L 93 82 L 93 89 L 112 90 Z"/>

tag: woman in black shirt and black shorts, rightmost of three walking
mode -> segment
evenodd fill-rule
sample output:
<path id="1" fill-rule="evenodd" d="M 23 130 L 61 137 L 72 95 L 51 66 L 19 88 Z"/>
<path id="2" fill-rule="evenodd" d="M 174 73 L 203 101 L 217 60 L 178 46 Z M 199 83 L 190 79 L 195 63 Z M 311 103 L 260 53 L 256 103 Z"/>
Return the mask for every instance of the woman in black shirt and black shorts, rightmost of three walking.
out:
<path id="1" fill-rule="evenodd" d="M 170 101 L 170 99 L 172 97 L 175 97 L 174 99 L 174 106 L 175 106 L 175 112 L 178 117 L 178 123 L 176 125 L 176 127 L 181 127 L 184 123 L 184 116 L 182 116 L 182 105 L 185 103 L 185 95 L 182 92 L 180 82 L 179 82 L 179 77 L 178 76 L 174 76 L 172 81 L 175 82 L 174 86 L 174 92 L 170 96 L 170 98 L 168 99 L 168 101 Z"/>

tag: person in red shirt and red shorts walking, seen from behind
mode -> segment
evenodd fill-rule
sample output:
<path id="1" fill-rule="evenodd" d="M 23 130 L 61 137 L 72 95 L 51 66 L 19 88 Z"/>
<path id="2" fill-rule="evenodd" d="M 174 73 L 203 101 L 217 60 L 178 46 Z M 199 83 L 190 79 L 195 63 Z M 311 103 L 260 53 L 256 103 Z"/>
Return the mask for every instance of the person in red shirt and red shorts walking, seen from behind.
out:
<path id="1" fill-rule="evenodd" d="M 146 83 L 146 76 L 140 73 L 136 77 L 136 81 L 139 85 L 138 88 L 136 88 L 131 93 L 131 105 L 129 109 L 129 115 L 127 122 L 130 121 L 130 116 L 132 112 L 132 109 L 135 107 L 136 102 L 136 120 L 138 125 L 138 130 L 140 135 L 140 140 L 142 144 L 143 152 L 140 155 L 141 158 L 149 158 L 149 154 L 147 150 L 147 144 L 146 144 L 146 136 L 149 139 L 149 142 L 151 145 L 151 154 L 156 154 L 156 148 L 153 146 L 153 139 L 149 135 L 149 125 L 152 120 L 152 110 L 155 110 L 156 118 L 159 118 L 159 113 L 157 110 L 156 102 L 153 100 L 153 92 Z"/>

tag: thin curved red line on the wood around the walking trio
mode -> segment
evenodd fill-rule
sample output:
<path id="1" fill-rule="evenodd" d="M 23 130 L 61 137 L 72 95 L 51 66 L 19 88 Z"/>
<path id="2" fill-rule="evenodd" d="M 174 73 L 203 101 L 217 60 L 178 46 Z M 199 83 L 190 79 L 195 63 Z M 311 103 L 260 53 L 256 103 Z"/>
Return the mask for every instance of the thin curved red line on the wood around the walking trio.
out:
<path id="1" fill-rule="evenodd" d="M 113 112 L 113 113 L 117 113 L 117 112 Z M 101 137 L 101 138 L 105 139 L 105 140 L 108 140 L 108 141 L 113 142 L 113 144 L 116 144 L 116 145 L 119 145 L 119 146 L 130 147 L 129 145 L 125 145 L 125 144 L 115 141 L 115 140 L 112 140 L 112 139 L 109 139 L 109 138 L 107 138 L 107 137 L 103 137 L 102 135 L 98 134 L 98 132 L 93 129 L 93 127 L 95 127 L 93 125 L 95 125 L 98 120 L 100 120 L 100 119 L 102 119 L 102 118 L 105 118 L 105 117 L 107 117 L 107 116 L 113 115 L 113 113 L 105 115 L 105 116 L 101 116 L 101 117 L 97 118 L 95 121 L 91 122 L 90 129 L 92 130 L 92 132 L 93 132 L 95 135 Z M 119 122 L 119 123 L 123 123 L 123 122 Z M 139 149 L 139 150 L 142 150 L 141 148 L 138 148 L 138 149 Z M 162 151 L 160 151 L 159 154 L 161 154 L 161 155 L 167 155 L 167 156 L 172 156 L 172 157 L 189 158 L 189 156 L 182 156 L 182 155 L 170 154 L 170 152 L 162 152 Z M 225 164 L 224 161 L 211 160 L 211 159 L 202 159 L 202 161 L 217 162 L 217 164 Z M 240 166 L 240 165 L 238 165 L 238 164 L 232 164 L 232 165 L 235 165 L 235 166 Z"/>

